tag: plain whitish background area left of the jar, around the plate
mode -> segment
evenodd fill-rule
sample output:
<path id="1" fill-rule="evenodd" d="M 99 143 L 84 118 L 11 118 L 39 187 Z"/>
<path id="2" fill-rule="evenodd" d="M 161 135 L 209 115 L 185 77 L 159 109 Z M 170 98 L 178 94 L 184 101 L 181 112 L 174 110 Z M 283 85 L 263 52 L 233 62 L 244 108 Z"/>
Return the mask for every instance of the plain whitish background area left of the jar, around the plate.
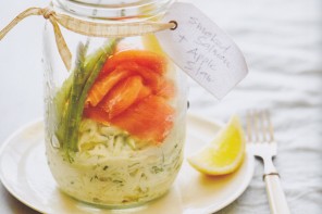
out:
<path id="1" fill-rule="evenodd" d="M 23 10 L 44 0 L 0 2 L 0 28 Z M 41 29 L 44 18 L 29 17 L 0 41 L 0 143 L 23 124 L 42 116 Z M 37 213 L 0 185 L 0 213 Z"/>

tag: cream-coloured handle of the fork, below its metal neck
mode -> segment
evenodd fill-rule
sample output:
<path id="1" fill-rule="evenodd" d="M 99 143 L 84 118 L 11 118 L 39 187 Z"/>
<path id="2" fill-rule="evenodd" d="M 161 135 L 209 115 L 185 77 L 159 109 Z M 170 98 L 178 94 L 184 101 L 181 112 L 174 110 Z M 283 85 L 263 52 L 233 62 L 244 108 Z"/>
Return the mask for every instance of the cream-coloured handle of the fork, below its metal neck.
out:
<path id="1" fill-rule="evenodd" d="M 278 174 L 264 175 L 264 180 L 272 214 L 289 214 Z"/>

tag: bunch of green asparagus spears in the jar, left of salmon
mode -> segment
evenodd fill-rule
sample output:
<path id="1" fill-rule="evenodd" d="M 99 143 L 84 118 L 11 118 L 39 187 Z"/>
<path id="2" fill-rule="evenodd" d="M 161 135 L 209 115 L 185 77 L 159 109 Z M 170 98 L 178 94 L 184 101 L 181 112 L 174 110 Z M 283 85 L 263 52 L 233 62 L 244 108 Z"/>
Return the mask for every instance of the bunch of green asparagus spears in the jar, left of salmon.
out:
<path id="1" fill-rule="evenodd" d="M 72 152 L 76 152 L 78 128 L 83 116 L 84 103 L 103 63 L 113 53 L 117 40 L 111 40 L 103 48 L 86 56 L 87 45 L 79 45 L 76 66 L 55 96 L 58 128 L 55 135 L 72 161 Z"/>

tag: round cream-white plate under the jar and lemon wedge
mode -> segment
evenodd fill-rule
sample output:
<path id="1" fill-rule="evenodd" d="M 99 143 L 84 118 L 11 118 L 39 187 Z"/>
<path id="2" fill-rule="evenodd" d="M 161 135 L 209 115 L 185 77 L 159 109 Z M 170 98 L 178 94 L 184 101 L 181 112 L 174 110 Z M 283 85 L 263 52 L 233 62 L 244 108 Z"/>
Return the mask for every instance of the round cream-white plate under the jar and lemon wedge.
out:
<path id="1" fill-rule="evenodd" d="M 220 128 L 219 123 L 198 116 L 189 115 L 187 122 L 186 155 L 209 142 Z M 47 166 L 41 119 L 14 133 L 0 150 L 2 184 L 16 199 L 41 213 L 212 213 L 237 199 L 249 185 L 252 173 L 251 155 L 246 156 L 237 172 L 221 177 L 203 176 L 184 161 L 168 194 L 145 206 L 109 211 L 73 200 L 57 188 Z"/>

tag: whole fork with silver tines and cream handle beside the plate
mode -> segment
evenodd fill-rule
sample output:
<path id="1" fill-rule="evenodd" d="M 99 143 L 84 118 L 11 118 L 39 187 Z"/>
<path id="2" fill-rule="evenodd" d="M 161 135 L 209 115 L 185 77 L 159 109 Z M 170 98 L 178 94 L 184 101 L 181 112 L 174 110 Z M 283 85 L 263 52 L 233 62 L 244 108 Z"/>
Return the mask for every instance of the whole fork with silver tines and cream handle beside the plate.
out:
<path id="1" fill-rule="evenodd" d="M 261 158 L 264 164 L 263 179 L 267 186 L 271 213 L 288 214 L 289 210 L 283 192 L 280 175 L 273 164 L 277 152 L 273 126 L 269 111 L 251 111 L 247 113 L 247 142 L 249 152 Z"/>

